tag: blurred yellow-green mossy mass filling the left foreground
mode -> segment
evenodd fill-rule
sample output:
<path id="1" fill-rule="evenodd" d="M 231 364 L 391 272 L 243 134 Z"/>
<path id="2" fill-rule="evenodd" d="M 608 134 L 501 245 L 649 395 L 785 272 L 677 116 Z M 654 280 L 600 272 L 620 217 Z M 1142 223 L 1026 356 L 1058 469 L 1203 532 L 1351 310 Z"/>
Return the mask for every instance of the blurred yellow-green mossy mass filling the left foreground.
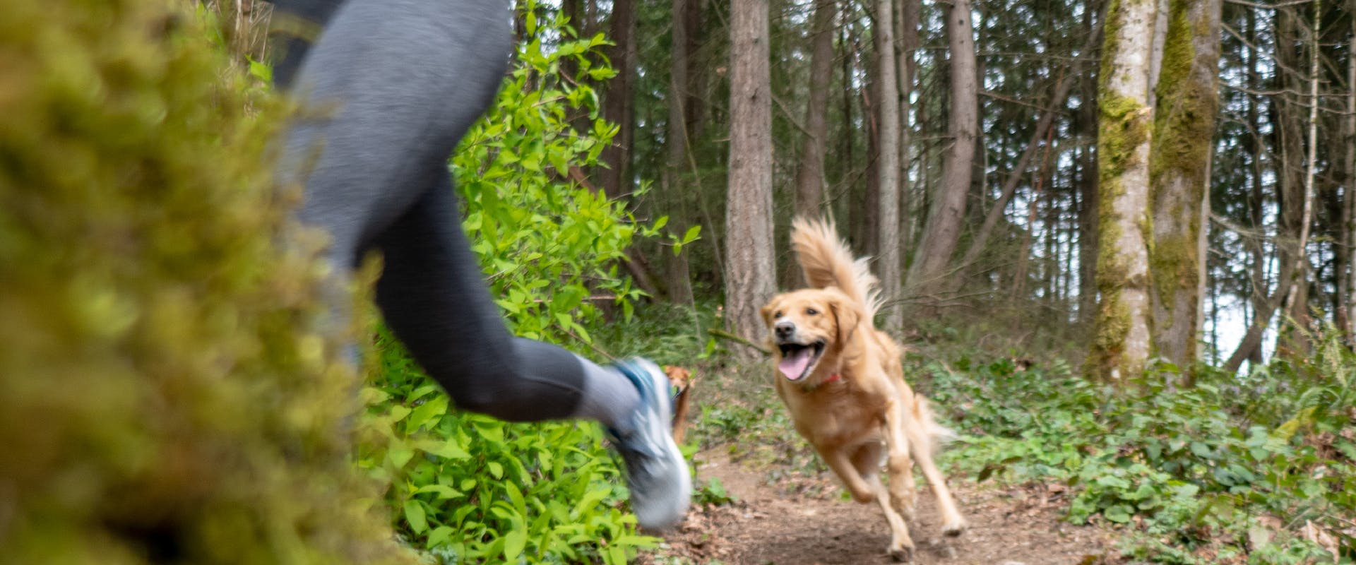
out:
<path id="1" fill-rule="evenodd" d="M 193 3 L 0 15 L 0 562 L 404 562 L 342 336 Z M 248 110 L 247 110 L 248 108 Z"/>

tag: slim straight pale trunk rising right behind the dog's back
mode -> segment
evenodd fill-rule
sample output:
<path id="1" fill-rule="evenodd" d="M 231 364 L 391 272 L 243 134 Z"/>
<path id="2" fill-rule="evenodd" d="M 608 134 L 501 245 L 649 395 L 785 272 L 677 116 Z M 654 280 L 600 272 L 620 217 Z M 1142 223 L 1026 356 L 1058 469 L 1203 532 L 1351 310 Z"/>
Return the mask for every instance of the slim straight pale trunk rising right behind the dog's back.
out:
<path id="1" fill-rule="evenodd" d="M 899 295 L 899 68 L 895 64 L 894 0 L 876 3 L 876 84 L 880 88 L 880 131 L 876 171 L 880 179 L 876 201 L 877 245 L 876 274 L 880 294 L 885 302 L 883 329 L 898 332 L 903 327 L 903 310 L 895 301 Z"/>

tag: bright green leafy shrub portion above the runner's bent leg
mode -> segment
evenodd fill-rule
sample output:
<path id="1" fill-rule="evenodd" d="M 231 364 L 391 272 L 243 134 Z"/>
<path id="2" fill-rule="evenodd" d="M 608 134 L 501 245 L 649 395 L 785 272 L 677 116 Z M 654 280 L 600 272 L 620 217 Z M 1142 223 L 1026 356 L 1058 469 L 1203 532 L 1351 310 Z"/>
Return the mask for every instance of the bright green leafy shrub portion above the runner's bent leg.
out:
<path id="1" fill-rule="evenodd" d="M 591 341 L 584 327 L 599 314 L 591 297 L 631 317 L 641 291 L 617 274 L 617 260 L 632 237 L 654 237 L 658 228 L 570 177 L 572 169 L 601 165 L 617 133 L 598 118 L 587 85 L 614 73 L 598 54 L 602 34 L 575 39 L 559 12 L 536 1 L 521 9 L 533 38 L 518 43 L 513 75 L 462 140 L 452 171 L 466 207 L 464 228 L 514 333 L 584 344 Z M 576 76 L 561 75 L 567 60 Z M 571 121 L 579 117 L 590 117 L 591 129 L 576 130 Z"/>

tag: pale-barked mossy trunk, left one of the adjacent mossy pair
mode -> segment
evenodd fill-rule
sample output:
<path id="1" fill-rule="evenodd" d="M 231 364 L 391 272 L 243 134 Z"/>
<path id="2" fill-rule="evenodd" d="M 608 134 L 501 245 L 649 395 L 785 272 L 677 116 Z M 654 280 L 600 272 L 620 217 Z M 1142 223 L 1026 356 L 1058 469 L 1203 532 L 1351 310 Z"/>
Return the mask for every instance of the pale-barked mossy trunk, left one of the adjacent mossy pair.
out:
<path id="1" fill-rule="evenodd" d="M 1154 0 L 1112 0 L 1097 92 L 1098 252 L 1101 302 L 1086 360 L 1092 378 L 1121 382 L 1150 352 L 1149 75 Z"/>

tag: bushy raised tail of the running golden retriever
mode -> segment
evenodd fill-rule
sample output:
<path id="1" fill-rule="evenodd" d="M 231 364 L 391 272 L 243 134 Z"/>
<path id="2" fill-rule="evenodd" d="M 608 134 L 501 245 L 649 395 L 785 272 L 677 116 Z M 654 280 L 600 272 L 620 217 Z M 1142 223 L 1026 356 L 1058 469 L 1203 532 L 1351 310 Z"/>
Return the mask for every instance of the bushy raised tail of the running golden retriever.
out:
<path id="1" fill-rule="evenodd" d="M 868 320 L 876 316 L 881 306 L 876 275 L 871 274 L 866 257 L 852 257 L 852 249 L 838 237 L 833 222 L 803 217 L 792 219 L 791 245 L 811 287 L 837 287 L 862 305 Z"/>

